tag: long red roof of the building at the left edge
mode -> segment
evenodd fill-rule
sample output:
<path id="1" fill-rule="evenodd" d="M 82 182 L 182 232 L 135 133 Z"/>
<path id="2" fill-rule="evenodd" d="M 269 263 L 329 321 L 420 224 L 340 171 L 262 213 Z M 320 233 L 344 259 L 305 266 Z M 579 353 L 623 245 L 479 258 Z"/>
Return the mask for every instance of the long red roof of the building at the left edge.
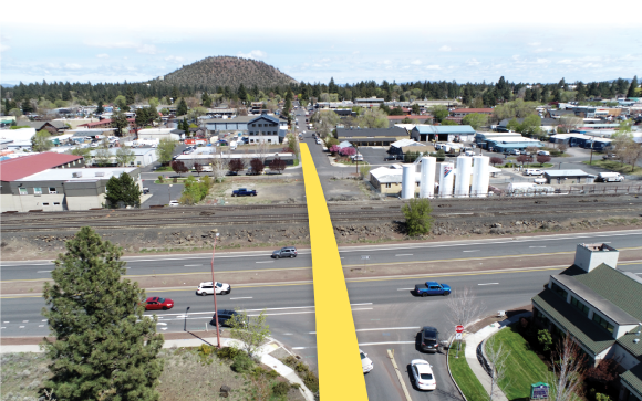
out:
<path id="1" fill-rule="evenodd" d="M 44 152 L 0 161 L 0 181 L 15 181 L 23 177 L 81 159 L 82 156 Z"/>

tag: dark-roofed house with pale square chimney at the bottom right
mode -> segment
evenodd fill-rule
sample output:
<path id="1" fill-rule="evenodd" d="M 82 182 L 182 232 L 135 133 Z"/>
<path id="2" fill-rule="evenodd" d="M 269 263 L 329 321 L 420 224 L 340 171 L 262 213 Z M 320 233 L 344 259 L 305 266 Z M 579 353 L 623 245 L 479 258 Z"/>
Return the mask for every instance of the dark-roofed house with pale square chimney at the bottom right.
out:
<path id="1" fill-rule="evenodd" d="M 607 244 L 578 244 L 573 265 L 549 277 L 532 298 L 535 324 L 572 336 L 590 365 L 614 358 L 620 400 L 642 400 L 642 278 L 618 270 L 619 252 Z"/>

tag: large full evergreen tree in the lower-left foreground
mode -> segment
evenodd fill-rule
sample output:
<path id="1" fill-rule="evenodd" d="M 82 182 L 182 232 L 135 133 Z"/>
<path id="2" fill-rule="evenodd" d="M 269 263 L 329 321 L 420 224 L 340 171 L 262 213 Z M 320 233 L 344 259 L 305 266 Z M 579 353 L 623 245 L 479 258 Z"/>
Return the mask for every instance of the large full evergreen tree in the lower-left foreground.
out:
<path id="1" fill-rule="evenodd" d="M 163 372 L 157 319 L 143 316 L 145 291 L 121 281 L 121 247 L 84 226 L 65 244 L 44 284 L 48 319 L 56 340 L 44 340 L 58 400 L 158 400 Z"/>

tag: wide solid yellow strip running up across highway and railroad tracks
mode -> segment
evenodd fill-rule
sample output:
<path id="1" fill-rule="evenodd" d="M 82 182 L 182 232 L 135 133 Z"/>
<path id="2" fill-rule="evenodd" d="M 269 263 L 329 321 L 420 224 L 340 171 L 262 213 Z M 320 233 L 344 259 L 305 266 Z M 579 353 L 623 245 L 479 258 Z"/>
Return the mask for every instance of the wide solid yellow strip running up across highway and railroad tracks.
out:
<path id="1" fill-rule="evenodd" d="M 320 391 L 327 400 L 365 401 L 365 379 L 334 229 L 310 149 L 306 144 L 300 146 L 312 250 Z"/>

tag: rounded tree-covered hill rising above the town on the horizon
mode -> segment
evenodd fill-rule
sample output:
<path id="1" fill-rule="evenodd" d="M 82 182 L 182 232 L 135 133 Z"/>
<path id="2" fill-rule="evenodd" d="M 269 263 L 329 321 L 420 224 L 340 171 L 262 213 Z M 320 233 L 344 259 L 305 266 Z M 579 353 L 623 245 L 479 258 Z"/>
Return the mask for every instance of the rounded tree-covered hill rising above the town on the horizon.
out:
<path id="1" fill-rule="evenodd" d="M 297 80 L 283 74 L 262 61 L 217 56 L 207 57 L 161 77 L 166 84 L 207 87 L 214 91 L 219 86 L 237 88 L 241 83 L 246 88 L 289 85 Z"/>

